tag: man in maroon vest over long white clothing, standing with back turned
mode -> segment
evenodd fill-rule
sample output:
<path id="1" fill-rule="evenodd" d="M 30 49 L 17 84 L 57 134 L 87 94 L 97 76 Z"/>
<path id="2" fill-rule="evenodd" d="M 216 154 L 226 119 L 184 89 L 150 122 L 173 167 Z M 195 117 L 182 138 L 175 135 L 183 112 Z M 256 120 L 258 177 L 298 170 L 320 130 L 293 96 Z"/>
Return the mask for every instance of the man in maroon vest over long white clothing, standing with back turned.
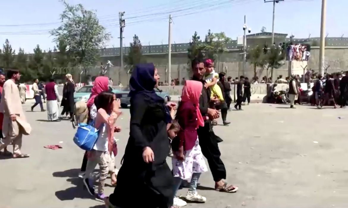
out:
<path id="1" fill-rule="evenodd" d="M 49 80 L 49 83 L 45 86 L 47 95 L 47 119 L 49 121 L 60 121 L 59 120 L 59 94 L 56 83 L 53 79 Z"/>

